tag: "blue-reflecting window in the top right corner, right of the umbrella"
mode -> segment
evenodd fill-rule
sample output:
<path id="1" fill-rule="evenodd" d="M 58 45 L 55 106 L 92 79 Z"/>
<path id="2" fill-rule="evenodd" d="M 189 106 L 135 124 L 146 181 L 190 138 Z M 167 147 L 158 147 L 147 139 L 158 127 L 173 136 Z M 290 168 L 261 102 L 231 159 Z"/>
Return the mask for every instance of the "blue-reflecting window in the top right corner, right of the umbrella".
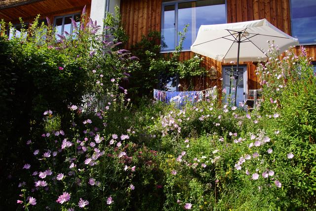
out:
<path id="1" fill-rule="evenodd" d="M 316 0 L 291 0 L 292 36 L 301 44 L 316 43 Z"/>

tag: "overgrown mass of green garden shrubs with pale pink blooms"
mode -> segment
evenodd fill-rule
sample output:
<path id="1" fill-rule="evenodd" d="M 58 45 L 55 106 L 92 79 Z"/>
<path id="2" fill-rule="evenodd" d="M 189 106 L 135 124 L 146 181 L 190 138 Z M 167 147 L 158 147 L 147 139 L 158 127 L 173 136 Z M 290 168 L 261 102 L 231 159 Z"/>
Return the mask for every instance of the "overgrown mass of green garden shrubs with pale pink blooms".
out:
<path id="1" fill-rule="evenodd" d="M 0 40 L 6 73 L 17 70 L 11 60 L 28 59 L 35 89 L 47 86 L 31 98 L 27 133 L 14 125 L 23 110 L 13 118 L 11 101 L 1 103 L 10 123 L 1 122 L 6 210 L 316 210 L 316 77 L 304 48 L 281 58 L 270 43 L 257 68 L 263 97 L 251 112 L 217 96 L 181 108 L 133 105 L 122 86 L 136 58 L 96 24 L 58 42 L 49 28 L 32 27 L 33 35 L 47 29 L 45 39 Z M 22 83 L 21 70 L 1 77 Z M 3 96 L 26 105 L 13 82 Z"/>

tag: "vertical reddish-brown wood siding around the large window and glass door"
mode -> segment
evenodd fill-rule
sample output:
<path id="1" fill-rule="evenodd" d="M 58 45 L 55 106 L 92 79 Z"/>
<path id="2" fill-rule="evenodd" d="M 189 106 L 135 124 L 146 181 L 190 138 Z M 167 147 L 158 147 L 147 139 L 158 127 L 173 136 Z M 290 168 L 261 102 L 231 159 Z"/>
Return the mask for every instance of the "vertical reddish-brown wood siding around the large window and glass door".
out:
<path id="1" fill-rule="evenodd" d="M 147 36 L 150 31 L 160 31 L 161 26 L 161 0 L 121 0 L 122 22 L 124 29 L 129 35 L 127 48 L 139 42 L 141 36 Z M 289 0 L 227 0 L 227 22 L 251 21 L 266 18 L 274 26 L 291 35 L 290 5 Z M 306 45 L 308 56 L 316 61 L 316 45 Z M 300 48 L 297 47 L 297 53 Z M 187 60 L 194 57 L 190 51 L 182 52 L 180 60 Z M 193 79 L 196 89 L 204 89 L 217 85 L 221 87 L 222 65 L 230 65 L 218 62 L 214 59 L 203 57 L 202 66 L 210 69 L 214 66 L 217 69 L 216 80 L 209 77 L 196 77 Z M 240 63 L 247 66 L 248 88 L 260 88 L 259 78 L 255 74 L 256 65 L 252 62 Z M 184 83 L 182 81 L 180 83 Z"/>

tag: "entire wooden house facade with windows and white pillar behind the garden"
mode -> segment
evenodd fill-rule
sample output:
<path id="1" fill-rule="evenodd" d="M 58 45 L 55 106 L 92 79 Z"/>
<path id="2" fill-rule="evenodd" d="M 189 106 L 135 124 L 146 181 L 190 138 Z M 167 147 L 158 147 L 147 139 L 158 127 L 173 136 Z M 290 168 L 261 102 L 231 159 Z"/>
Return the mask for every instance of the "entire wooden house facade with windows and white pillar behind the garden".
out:
<path id="1" fill-rule="evenodd" d="M 18 24 L 18 18 L 22 17 L 26 23 L 30 23 L 37 14 L 41 14 L 41 19 L 48 17 L 54 26 L 60 27 L 59 30 L 62 32 L 70 26 L 69 17 L 78 16 L 84 5 L 88 16 L 92 20 L 97 20 L 97 23 L 102 23 L 106 13 L 113 12 L 114 7 L 119 5 L 122 23 L 129 36 L 127 48 L 140 42 L 142 35 L 147 36 L 151 31 L 161 32 L 168 43 L 176 44 L 181 23 L 190 22 L 192 30 L 187 34 L 187 48 L 181 52 L 180 60 L 195 56 L 188 46 L 191 45 L 190 42 L 194 42 L 200 22 L 202 24 L 234 23 L 266 18 L 286 34 L 293 37 L 301 36 L 304 42 L 301 42 L 300 37 L 299 41 L 316 64 L 315 0 L 0 0 L 0 19 Z M 194 7 L 201 10 L 192 10 Z M 170 26 L 167 26 L 168 24 Z M 161 53 L 169 53 L 172 50 L 172 46 L 168 49 L 162 48 Z M 300 48 L 296 47 L 296 51 L 299 53 Z M 212 69 L 213 75 L 196 77 L 194 79 L 196 90 L 214 85 L 221 88 L 223 84 L 220 79 L 223 78 L 223 70 L 232 66 L 205 56 L 201 65 L 206 70 Z M 255 74 L 256 63 L 242 62 L 240 65 L 245 70 L 244 92 L 260 88 L 259 78 Z M 216 70 L 215 77 L 214 70 Z"/>

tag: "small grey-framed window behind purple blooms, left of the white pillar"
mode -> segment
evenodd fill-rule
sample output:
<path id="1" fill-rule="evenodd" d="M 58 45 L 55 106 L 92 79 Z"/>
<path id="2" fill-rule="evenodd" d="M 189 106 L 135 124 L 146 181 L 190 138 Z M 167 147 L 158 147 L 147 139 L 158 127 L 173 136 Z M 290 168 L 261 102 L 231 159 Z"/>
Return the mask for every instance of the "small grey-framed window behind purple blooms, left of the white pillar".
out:
<path id="1" fill-rule="evenodd" d="M 70 14 L 70 15 L 64 15 L 55 17 L 54 19 L 54 27 L 56 29 L 56 32 L 60 35 L 67 35 L 73 33 L 73 25 L 71 23 L 71 18 L 73 18 L 77 26 L 79 27 L 80 24 L 80 14 Z M 56 37 L 58 39 L 58 37 Z"/>

